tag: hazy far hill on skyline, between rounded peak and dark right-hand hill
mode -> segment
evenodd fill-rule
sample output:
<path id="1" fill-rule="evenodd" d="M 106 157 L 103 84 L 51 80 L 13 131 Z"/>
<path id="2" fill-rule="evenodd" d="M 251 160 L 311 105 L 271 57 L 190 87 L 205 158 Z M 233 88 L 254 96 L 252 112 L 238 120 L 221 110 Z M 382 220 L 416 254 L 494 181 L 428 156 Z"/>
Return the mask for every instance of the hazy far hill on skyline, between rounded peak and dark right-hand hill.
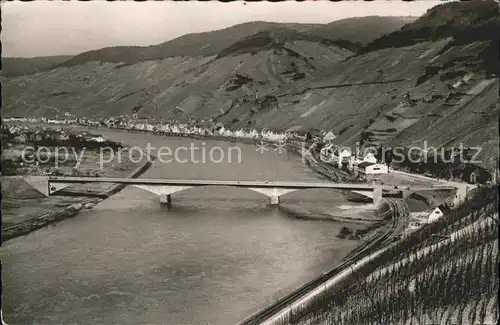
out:
<path id="1" fill-rule="evenodd" d="M 399 30 L 417 17 L 354 17 L 333 21 L 310 29 L 309 35 L 329 40 L 348 40 L 353 43 L 367 44 L 385 34 Z"/>

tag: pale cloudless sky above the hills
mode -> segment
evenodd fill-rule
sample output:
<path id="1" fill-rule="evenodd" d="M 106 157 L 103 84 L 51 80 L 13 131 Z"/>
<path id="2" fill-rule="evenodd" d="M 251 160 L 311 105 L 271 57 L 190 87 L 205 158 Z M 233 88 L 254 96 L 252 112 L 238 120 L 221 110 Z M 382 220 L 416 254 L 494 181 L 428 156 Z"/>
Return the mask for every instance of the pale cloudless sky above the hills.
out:
<path id="1" fill-rule="evenodd" d="M 148 46 L 256 20 L 328 23 L 361 16 L 420 16 L 440 3 L 2 1 L 2 56 L 75 55 L 109 46 Z"/>

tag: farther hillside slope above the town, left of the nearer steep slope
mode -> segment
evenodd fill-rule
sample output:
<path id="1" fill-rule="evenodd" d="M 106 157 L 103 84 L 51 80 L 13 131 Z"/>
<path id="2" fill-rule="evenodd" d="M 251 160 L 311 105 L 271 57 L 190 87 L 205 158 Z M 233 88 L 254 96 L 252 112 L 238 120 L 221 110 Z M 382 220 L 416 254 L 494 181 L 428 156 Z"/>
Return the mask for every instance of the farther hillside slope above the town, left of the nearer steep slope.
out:
<path id="1" fill-rule="evenodd" d="M 274 36 L 273 36 L 274 37 Z M 271 40 L 274 43 L 275 40 Z M 136 64 L 88 62 L 4 83 L 4 114 L 213 118 L 248 122 L 265 96 L 292 89 L 352 53 L 300 38 L 216 59 L 173 57 Z M 234 112 L 233 112 L 234 110 Z M 223 116 L 223 117 L 222 117 Z M 229 121 L 228 121 L 229 119 Z"/>

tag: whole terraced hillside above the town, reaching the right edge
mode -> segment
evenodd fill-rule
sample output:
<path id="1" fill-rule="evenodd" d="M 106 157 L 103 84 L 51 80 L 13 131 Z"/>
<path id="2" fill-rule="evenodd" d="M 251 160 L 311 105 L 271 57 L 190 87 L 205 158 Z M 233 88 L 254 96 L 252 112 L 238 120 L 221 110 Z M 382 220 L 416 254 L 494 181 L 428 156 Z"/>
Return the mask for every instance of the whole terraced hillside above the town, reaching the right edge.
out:
<path id="1" fill-rule="evenodd" d="M 273 28 L 228 46 L 214 41 L 219 50 L 207 47 L 212 56 L 59 67 L 8 78 L 3 113 L 321 128 L 349 145 L 462 143 L 481 146 L 476 159 L 491 168 L 498 155 L 498 15 L 492 1 L 443 4 L 357 55 Z"/>

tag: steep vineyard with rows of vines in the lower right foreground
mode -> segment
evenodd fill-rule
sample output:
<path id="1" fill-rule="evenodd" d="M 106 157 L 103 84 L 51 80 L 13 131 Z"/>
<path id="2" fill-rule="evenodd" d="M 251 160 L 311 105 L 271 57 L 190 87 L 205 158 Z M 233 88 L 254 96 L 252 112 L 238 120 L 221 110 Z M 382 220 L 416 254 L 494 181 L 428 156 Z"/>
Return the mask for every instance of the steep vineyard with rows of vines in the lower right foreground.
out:
<path id="1" fill-rule="evenodd" d="M 497 188 L 389 246 L 280 324 L 496 324 Z"/>

